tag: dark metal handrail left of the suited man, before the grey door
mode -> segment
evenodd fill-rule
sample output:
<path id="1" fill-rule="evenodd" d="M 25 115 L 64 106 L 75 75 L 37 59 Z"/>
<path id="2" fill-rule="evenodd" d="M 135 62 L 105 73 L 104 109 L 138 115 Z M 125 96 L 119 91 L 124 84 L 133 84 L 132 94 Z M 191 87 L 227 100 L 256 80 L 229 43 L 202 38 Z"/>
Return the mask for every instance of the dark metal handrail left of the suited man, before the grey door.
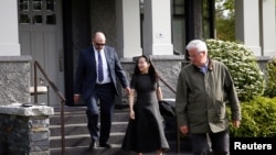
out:
<path id="1" fill-rule="evenodd" d="M 60 91 L 60 89 L 55 86 L 55 84 L 50 79 L 50 77 L 46 75 L 45 70 L 41 67 L 41 65 L 39 64 L 39 62 L 34 60 L 33 63 L 34 65 L 34 103 L 38 103 L 38 81 L 36 81 L 36 68 L 40 69 L 41 74 L 44 76 L 44 78 L 46 79 L 46 81 L 49 82 L 49 85 L 53 88 L 54 92 L 57 95 L 57 97 L 61 100 L 61 134 L 62 134 L 62 155 L 65 154 L 65 139 L 64 139 L 64 103 L 66 102 L 66 99 L 64 98 L 64 96 L 62 95 L 62 92 Z"/>

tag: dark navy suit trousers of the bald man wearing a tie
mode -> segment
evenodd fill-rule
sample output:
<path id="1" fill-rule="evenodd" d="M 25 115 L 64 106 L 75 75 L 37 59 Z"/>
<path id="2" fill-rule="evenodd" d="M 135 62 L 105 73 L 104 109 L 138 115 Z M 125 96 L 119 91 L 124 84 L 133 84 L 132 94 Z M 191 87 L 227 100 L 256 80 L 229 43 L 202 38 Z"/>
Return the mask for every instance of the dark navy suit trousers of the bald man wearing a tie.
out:
<path id="1" fill-rule="evenodd" d="M 114 101 L 115 88 L 113 84 L 96 85 L 96 91 L 86 100 L 87 128 L 93 142 L 99 141 L 100 144 L 105 144 L 108 141 Z M 98 129 L 98 120 L 100 120 L 100 130 Z"/>

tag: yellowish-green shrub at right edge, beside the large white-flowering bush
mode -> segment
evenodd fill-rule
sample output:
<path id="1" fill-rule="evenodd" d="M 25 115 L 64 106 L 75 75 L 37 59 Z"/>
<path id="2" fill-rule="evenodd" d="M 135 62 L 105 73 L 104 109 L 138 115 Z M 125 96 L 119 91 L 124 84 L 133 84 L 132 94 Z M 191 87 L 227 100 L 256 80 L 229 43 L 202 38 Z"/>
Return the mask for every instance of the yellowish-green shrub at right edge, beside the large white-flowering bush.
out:
<path id="1" fill-rule="evenodd" d="M 276 97 L 276 56 L 268 60 L 266 64 L 266 88 L 264 96 Z"/>

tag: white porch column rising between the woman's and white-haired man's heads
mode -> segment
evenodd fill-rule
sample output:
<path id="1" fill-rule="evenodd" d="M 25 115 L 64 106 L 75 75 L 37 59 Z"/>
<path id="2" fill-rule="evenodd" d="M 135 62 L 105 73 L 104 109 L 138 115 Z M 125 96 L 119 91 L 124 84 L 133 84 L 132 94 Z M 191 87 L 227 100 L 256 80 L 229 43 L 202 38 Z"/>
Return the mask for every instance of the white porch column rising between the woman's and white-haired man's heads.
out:
<path id="1" fill-rule="evenodd" d="M 144 53 L 173 55 L 170 0 L 144 0 Z"/>

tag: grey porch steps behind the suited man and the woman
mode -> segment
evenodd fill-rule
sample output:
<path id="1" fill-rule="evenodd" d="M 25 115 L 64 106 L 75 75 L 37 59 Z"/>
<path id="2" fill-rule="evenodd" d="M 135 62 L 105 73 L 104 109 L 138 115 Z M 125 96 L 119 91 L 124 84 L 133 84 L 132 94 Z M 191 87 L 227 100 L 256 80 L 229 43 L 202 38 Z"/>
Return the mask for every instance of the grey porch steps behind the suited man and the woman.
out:
<path id="1" fill-rule="evenodd" d="M 114 120 L 112 123 L 112 132 L 108 143 L 113 144 L 113 148 L 97 148 L 89 152 L 88 145 L 91 136 L 87 130 L 86 108 L 82 107 L 65 107 L 64 110 L 64 134 L 65 134 L 65 155 L 132 155 L 120 150 L 120 144 L 124 141 L 125 132 L 128 125 L 128 110 L 115 110 Z M 55 114 L 50 118 L 50 152 L 51 155 L 61 155 L 61 118 L 59 108 L 55 108 Z M 100 124 L 99 124 L 100 125 Z M 177 153 L 177 132 L 173 125 L 169 125 L 166 131 L 166 136 L 169 141 L 170 151 L 167 153 Z M 190 152 L 189 143 L 181 143 L 181 154 Z M 145 154 L 147 155 L 147 154 Z"/>

